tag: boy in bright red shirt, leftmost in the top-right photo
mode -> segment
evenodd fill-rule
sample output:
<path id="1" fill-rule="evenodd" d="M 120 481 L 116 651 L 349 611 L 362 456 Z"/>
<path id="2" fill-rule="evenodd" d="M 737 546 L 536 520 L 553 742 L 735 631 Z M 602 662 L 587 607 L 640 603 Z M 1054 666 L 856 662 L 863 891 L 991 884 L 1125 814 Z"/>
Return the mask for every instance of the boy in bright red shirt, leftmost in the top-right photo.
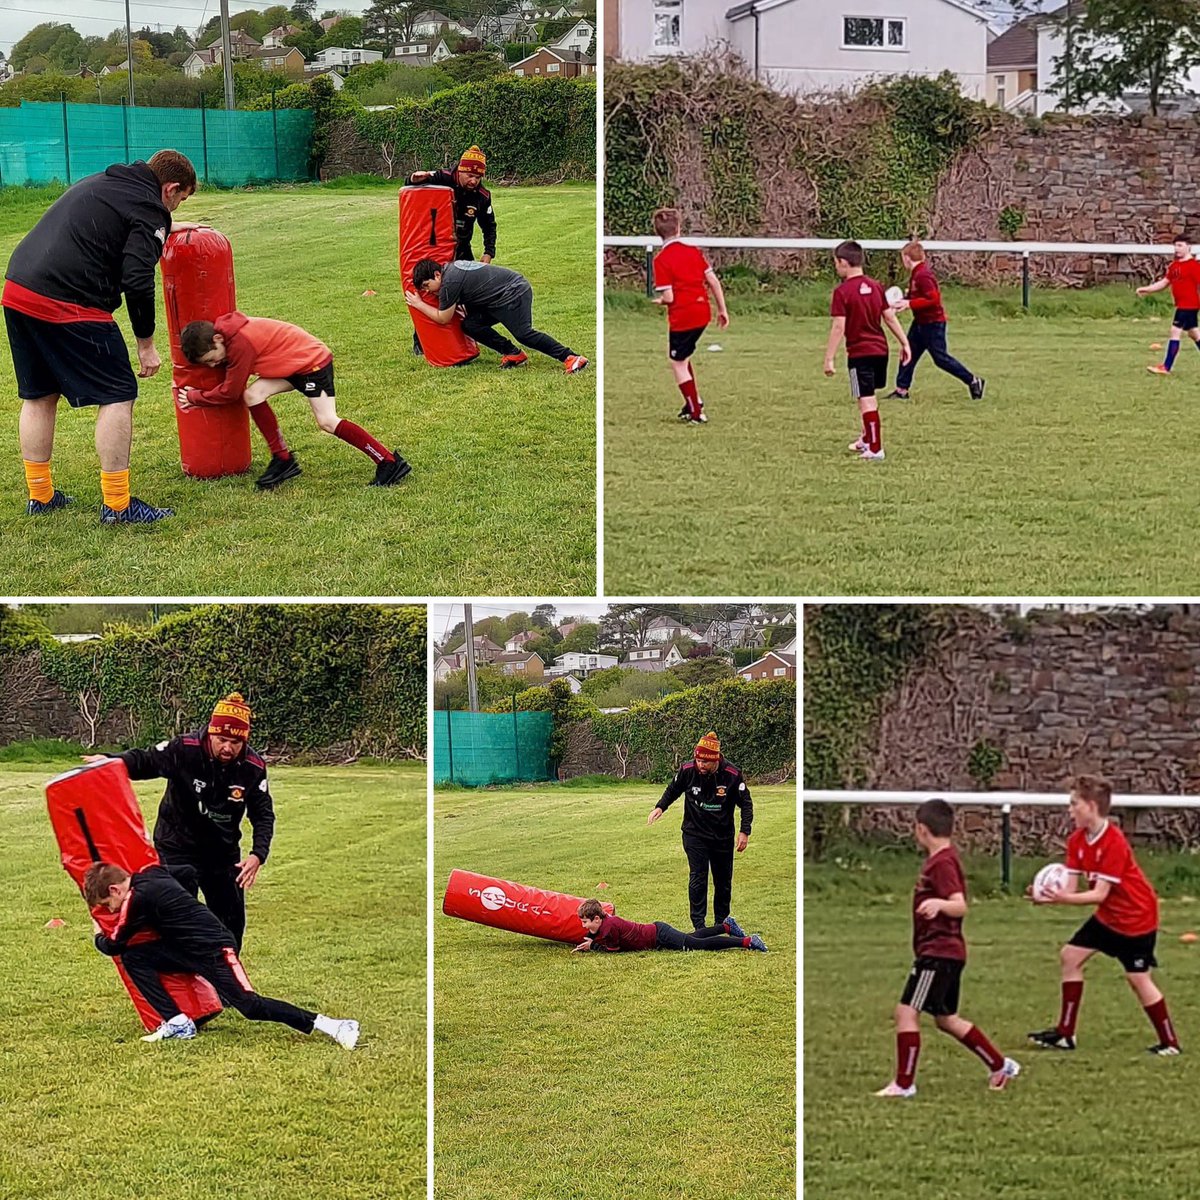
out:
<path id="1" fill-rule="evenodd" d="M 721 329 L 730 328 L 730 313 L 716 271 L 708 265 L 702 250 L 679 240 L 679 230 L 678 209 L 659 209 L 654 214 L 654 232 L 662 239 L 662 248 L 654 257 L 654 302 L 667 311 L 667 358 L 676 384 L 683 392 L 679 420 L 700 424 L 708 418 L 704 415 L 704 402 L 696 391 L 691 355 L 713 319 L 708 292 L 716 301 L 716 324 Z"/>

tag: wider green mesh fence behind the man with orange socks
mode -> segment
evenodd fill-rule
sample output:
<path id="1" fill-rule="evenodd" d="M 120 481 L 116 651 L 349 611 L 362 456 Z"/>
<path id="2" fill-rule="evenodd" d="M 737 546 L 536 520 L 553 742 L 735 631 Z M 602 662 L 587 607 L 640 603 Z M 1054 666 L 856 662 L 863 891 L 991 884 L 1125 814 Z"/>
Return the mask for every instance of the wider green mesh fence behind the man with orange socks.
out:
<path id="1" fill-rule="evenodd" d="M 308 178 L 312 113 L 127 104 L 50 104 L 24 100 L 0 108 L 0 184 L 74 182 L 114 162 L 179 150 L 204 182 L 238 187 Z"/>

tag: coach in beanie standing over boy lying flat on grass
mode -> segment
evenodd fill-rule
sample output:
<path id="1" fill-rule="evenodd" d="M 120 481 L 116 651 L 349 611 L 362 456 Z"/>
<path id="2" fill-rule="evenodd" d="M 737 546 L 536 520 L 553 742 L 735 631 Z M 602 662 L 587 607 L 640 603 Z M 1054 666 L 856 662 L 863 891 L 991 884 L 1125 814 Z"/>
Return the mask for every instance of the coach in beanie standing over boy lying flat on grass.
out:
<path id="1" fill-rule="evenodd" d="M 667 784 L 662 799 L 650 810 L 647 824 L 684 797 L 683 848 L 688 856 L 688 904 L 696 929 L 708 925 L 708 875 L 713 875 L 713 922 L 720 925 L 730 914 L 733 892 L 733 853 L 750 841 L 754 802 L 742 772 L 721 757 L 715 733 L 706 733 L 696 745 L 696 757 L 685 762 Z M 737 836 L 733 810 L 742 810 Z"/>

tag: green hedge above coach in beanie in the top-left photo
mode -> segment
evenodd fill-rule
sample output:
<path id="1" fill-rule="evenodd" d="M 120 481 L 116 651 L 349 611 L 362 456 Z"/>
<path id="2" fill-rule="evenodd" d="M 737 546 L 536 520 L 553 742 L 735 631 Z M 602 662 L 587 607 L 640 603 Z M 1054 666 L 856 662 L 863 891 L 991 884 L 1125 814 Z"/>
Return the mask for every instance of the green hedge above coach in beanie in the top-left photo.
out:
<path id="1" fill-rule="evenodd" d="M 491 179 L 595 179 L 594 78 L 522 79 L 500 76 L 379 113 L 356 112 L 359 137 L 394 145 L 397 161 L 419 167 L 457 164 L 469 145 L 487 155 Z"/>

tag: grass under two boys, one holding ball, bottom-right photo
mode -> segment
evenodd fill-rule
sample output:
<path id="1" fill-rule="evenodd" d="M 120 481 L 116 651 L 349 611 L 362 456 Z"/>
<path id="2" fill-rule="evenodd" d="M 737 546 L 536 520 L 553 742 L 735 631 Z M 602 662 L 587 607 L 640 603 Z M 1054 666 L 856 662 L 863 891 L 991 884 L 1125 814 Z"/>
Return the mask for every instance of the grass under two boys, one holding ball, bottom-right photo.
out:
<path id="1" fill-rule="evenodd" d="M 1200 1084 L 1200 868 L 1147 856 L 1163 895 L 1156 978 L 1184 1048 L 1156 1038 L 1121 967 L 1086 967 L 1079 1049 L 1038 1051 L 1025 1037 L 1058 1018 L 1058 947 L 1086 919 L 998 890 L 996 859 L 968 862 L 973 901 L 960 1013 L 1022 1066 L 1001 1093 L 984 1067 L 923 1018 L 917 1096 L 876 1099 L 895 1066 L 892 1013 L 912 964 L 911 898 L 919 853 L 804 866 L 804 1181 L 817 1200 L 1040 1200 L 1046 1195 L 1190 1200 Z M 1019 864 L 1021 892 L 1040 863 Z"/>

